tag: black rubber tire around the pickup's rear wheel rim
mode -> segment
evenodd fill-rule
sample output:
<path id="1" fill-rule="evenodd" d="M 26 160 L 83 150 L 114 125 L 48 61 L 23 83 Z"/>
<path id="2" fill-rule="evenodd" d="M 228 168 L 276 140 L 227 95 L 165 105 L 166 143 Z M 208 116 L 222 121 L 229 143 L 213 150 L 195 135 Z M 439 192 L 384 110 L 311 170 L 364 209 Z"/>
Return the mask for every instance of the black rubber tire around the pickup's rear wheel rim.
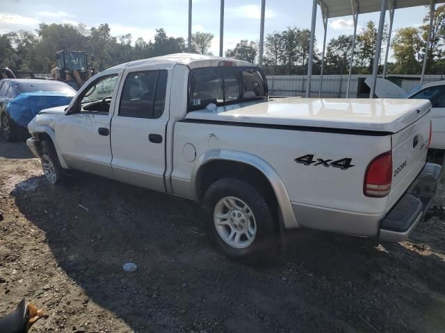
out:
<path id="1" fill-rule="evenodd" d="M 257 231 L 252 244 L 245 248 L 234 248 L 227 244 L 218 233 L 213 220 L 213 214 L 220 200 L 230 196 L 243 200 L 254 215 Z M 264 261 L 273 254 L 277 246 L 278 231 L 273 207 L 270 207 L 266 196 L 248 182 L 236 178 L 216 180 L 204 194 L 202 209 L 204 228 L 209 241 L 229 259 L 255 263 Z M 229 223 L 229 220 L 227 222 Z M 227 225 L 227 228 L 233 230 L 231 225 Z"/>

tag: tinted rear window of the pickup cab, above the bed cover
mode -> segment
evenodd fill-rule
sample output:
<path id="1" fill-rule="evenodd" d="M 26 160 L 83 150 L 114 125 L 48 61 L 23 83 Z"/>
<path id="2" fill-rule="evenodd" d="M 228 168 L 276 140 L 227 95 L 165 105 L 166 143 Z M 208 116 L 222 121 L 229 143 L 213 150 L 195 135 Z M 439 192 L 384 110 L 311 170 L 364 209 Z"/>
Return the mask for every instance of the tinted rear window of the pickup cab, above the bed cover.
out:
<path id="1" fill-rule="evenodd" d="M 193 69 L 188 81 L 188 111 L 267 99 L 264 76 L 255 67 L 206 67 Z"/>

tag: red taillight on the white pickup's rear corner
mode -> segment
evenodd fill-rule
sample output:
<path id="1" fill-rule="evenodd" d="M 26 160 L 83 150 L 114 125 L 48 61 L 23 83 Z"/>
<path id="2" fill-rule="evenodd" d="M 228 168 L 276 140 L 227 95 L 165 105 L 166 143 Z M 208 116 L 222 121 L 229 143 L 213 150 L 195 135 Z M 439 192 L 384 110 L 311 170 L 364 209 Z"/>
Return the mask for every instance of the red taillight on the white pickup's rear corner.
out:
<path id="1" fill-rule="evenodd" d="M 389 194 L 392 181 L 392 152 L 375 157 L 364 174 L 363 194 L 383 198 Z"/>

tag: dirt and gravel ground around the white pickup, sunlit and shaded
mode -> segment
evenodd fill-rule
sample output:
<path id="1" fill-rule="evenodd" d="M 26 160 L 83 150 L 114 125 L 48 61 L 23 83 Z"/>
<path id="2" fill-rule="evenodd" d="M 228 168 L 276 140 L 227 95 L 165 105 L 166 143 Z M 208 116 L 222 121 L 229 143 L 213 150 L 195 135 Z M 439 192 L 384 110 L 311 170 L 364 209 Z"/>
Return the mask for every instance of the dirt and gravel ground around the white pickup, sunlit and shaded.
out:
<path id="1" fill-rule="evenodd" d="M 445 331 L 437 219 L 401 244 L 287 232 L 285 253 L 245 266 L 209 245 L 193 203 L 95 176 L 51 187 L 3 141 L 0 211 L 0 318 L 26 298 L 47 314 L 31 332 Z"/>

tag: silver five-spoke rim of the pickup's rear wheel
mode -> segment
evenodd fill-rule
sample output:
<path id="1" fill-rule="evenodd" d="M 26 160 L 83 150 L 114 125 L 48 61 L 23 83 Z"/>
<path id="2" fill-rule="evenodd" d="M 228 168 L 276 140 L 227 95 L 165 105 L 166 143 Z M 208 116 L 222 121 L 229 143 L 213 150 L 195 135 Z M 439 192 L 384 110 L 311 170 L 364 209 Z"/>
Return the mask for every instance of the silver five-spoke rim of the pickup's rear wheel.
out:
<path id="1" fill-rule="evenodd" d="M 218 201 L 213 222 L 221 239 L 232 248 L 247 248 L 257 234 L 257 222 L 252 210 L 235 196 L 226 196 Z"/>

